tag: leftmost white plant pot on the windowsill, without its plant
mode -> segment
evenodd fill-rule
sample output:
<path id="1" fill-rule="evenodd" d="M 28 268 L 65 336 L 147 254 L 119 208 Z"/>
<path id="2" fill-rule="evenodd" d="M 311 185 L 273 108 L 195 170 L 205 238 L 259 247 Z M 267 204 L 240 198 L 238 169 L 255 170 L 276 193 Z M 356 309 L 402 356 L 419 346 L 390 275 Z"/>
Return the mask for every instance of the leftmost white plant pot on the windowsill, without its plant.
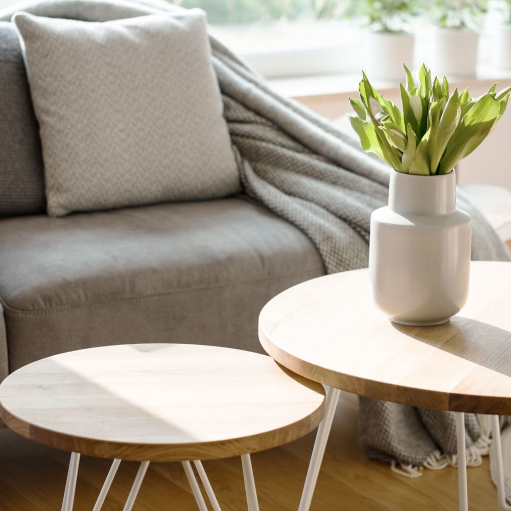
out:
<path id="1" fill-rule="evenodd" d="M 367 38 L 367 76 L 373 80 L 403 80 L 403 62 L 408 68 L 413 67 L 413 46 L 411 34 L 370 32 Z"/>

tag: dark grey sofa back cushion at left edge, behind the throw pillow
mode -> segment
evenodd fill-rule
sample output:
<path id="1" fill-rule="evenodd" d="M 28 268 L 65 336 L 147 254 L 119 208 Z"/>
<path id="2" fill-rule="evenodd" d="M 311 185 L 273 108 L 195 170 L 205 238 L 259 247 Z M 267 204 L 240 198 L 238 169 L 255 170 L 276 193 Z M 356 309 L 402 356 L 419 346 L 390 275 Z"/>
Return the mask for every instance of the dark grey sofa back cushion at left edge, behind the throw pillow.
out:
<path id="1" fill-rule="evenodd" d="M 18 35 L 0 21 L 0 216 L 45 208 L 41 144 Z"/>

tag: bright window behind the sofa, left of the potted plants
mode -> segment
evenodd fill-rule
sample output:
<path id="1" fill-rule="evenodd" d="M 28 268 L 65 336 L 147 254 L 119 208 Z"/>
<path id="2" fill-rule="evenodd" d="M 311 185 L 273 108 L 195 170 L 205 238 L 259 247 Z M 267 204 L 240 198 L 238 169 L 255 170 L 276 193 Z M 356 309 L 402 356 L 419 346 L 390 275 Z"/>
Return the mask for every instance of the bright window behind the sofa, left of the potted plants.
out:
<path id="1" fill-rule="evenodd" d="M 342 0 L 173 0 L 207 13 L 212 33 L 267 77 L 358 68 L 363 34 Z M 342 58 L 341 58 L 342 57 Z"/>

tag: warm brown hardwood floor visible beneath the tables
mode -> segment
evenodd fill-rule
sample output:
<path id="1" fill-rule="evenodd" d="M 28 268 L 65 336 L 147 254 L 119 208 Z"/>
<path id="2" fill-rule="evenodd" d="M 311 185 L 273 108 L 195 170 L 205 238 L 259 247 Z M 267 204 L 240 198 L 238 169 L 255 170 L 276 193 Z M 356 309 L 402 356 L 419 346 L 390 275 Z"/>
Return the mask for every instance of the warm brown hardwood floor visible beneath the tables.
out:
<path id="1" fill-rule="evenodd" d="M 252 455 L 261 511 L 295 511 L 314 442 L 310 434 L 287 446 Z M 54 511 L 61 506 L 69 454 L 48 449 L 0 431 L 0 510 Z M 75 511 L 90 511 L 109 461 L 82 457 Z M 121 463 L 103 506 L 122 509 L 138 464 Z M 204 462 L 223 511 L 246 509 L 240 458 Z M 468 471 L 469 509 L 497 511 L 487 459 Z M 368 460 L 357 440 L 357 400 L 342 394 L 319 476 L 312 511 L 453 511 L 457 474 L 453 468 L 424 471 L 408 479 L 388 466 Z M 134 511 L 196 511 L 179 463 L 149 466 Z"/>

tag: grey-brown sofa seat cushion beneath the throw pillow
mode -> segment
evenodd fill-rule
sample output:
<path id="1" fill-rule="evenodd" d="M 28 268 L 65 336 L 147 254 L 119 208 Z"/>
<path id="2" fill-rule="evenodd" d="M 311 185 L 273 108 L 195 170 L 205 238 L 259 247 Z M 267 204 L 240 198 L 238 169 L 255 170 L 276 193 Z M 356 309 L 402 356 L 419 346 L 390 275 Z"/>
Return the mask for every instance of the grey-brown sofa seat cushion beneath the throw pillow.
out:
<path id="1" fill-rule="evenodd" d="M 300 230 L 239 198 L 3 219 L 10 370 L 126 342 L 260 350 L 266 301 L 323 272 Z"/>

